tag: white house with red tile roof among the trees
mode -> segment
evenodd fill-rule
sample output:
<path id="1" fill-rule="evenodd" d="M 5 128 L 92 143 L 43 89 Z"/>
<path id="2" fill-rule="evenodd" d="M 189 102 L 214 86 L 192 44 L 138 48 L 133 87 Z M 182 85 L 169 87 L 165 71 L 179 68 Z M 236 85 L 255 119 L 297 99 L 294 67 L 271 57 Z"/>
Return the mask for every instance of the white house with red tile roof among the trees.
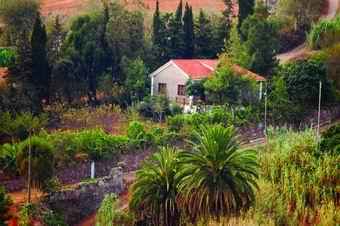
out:
<path id="1" fill-rule="evenodd" d="M 173 59 L 164 64 L 152 74 L 151 95 L 166 93 L 168 97 L 182 104 L 192 104 L 193 97 L 185 96 L 185 83 L 189 78 L 193 80 L 207 78 L 213 75 L 218 60 L 205 59 Z M 234 71 L 251 77 L 258 82 L 266 79 L 238 65 L 233 65 Z"/>

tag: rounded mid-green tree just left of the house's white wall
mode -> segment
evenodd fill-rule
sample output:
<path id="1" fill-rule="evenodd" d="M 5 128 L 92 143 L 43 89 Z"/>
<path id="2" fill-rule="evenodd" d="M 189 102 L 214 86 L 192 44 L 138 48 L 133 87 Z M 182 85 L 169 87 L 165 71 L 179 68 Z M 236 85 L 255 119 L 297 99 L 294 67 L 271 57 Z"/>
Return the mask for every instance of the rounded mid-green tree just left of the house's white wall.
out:
<path id="1" fill-rule="evenodd" d="M 129 64 L 126 73 L 125 88 L 130 93 L 132 102 L 140 102 L 150 92 L 149 71 L 144 62 L 137 58 Z"/>

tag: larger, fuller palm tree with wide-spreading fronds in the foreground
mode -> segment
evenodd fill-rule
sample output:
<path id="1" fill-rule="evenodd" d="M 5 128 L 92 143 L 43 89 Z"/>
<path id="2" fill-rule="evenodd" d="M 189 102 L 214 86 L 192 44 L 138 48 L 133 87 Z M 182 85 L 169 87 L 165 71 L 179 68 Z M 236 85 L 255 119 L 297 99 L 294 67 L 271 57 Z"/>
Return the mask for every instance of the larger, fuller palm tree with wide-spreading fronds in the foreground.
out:
<path id="1" fill-rule="evenodd" d="M 193 150 L 179 156 L 179 207 L 193 222 L 247 210 L 255 200 L 257 152 L 238 149 L 242 142 L 232 126 L 201 126 L 195 137 Z"/>

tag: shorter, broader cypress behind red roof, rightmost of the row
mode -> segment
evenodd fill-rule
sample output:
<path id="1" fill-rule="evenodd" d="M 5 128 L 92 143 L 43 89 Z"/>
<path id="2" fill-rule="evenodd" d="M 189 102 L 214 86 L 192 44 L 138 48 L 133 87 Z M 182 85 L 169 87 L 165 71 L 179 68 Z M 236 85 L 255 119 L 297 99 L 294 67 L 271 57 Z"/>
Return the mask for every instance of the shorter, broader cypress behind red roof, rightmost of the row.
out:
<path id="1" fill-rule="evenodd" d="M 213 33 L 209 18 L 200 10 L 196 24 L 196 56 L 198 58 L 214 58 L 212 45 Z"/>

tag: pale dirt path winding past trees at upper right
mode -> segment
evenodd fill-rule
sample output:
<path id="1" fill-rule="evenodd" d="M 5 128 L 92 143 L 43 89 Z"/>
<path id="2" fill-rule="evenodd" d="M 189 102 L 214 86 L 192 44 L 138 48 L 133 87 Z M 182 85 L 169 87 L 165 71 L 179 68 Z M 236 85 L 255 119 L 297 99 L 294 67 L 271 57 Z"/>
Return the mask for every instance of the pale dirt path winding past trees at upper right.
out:
<path id="1" fill-rule="evenodd" d="M 328 3 L 328 12 L 326 17 L 332 19 L 335 17 L 338 7 L 339 7 L 340 0 L 327 0 Z M 277 55 L 277 58 L 280 60 L 280 63 L 285 63 L 288 60 L 300 57 L 307 52 L 306 42 L 297 46 L 296 48 L 290 50 L 289 52 L 282 53 Z"/>

